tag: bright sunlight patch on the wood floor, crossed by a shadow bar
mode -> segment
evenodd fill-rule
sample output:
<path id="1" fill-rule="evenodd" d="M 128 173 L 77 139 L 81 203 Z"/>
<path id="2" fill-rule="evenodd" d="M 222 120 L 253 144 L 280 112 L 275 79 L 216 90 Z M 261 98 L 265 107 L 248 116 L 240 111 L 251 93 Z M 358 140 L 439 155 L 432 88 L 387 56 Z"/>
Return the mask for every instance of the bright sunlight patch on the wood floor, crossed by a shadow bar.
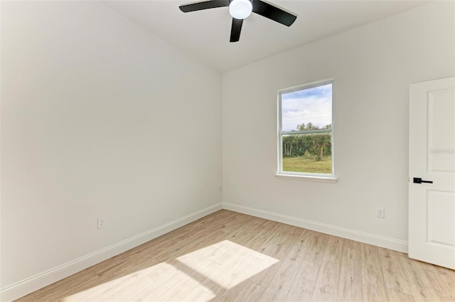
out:
<path id="1" fill-rule="evenodd" d="M 75 301 L 210 301 L 279 260 L 224 240 L 63 299 Z M 101 280 L 102 281 L 102 280 Z"/>

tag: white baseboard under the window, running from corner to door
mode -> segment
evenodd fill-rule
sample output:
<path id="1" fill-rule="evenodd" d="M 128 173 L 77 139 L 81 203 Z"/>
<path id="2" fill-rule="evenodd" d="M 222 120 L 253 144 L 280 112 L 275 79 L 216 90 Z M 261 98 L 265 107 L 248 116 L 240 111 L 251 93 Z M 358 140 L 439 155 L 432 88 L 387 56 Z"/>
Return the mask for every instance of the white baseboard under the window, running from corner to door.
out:
<path id="1" fill-rule="evenodd" d="M 297 217 L 291 217 L 274 212 L 258 210 L 252 207 L 244 207 L 242 205 L 235 205 L 233 203 L 223 203 L 223 209 L 240 212 L 255 217 L 265 218 L 276 222 L 286 223 L 287 225 L 294 225 L 296 227 L 303 227 L 304 229 L 314 230 L 316 232 L 331 234 L 337 237 L 352 239 L 358 242 L 373 244 L 378 247 L 385 247 L 407 253 L 407 242 L 388 237 L 382 237 L 375 234 L 368 234 L 356 230 L 349 230 L 343 227 L 336 227 L 335 225 L 326 225 L 321 222 L 311 220 L 304 220 Z"/>

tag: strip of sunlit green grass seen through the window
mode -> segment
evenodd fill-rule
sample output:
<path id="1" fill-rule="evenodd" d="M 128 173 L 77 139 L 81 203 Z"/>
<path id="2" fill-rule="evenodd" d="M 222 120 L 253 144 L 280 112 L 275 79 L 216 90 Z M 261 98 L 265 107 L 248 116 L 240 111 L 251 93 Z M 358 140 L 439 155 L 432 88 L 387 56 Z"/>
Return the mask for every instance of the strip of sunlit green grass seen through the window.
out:
<path id="1" fill-rule="evenodd" d="M 331 174 L 332 158 L 326 157 L 322 161 L 316 161 L 306 156 L 284 157 L 283 171 Z"/>

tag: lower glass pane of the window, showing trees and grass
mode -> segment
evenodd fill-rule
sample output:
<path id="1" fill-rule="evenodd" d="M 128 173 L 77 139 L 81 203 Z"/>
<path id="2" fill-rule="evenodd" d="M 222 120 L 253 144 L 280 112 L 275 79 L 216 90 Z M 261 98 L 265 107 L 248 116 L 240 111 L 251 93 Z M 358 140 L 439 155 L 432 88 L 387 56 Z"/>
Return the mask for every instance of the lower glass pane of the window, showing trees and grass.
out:
<path id="1" fill-rule="evenodd" d="M 332 173 L 332 133 L 284 134 L 284 172 Z"/>

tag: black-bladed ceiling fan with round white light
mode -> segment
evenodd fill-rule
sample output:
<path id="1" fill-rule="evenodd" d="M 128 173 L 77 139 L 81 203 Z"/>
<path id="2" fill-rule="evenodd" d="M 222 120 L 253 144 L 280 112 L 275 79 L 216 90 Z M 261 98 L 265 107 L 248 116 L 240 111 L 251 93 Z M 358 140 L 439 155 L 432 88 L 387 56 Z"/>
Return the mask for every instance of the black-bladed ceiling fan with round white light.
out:
<path id="1" fill-rule="evenodd" d="M 179 6 L 183 13 L 190 11 L 201 11 L 203 9 L 215 9 L 217 7 L 229 6 L 229 13 L 232 16 L 230 29 L 230 42 L 237 42 L 240 39 L 243 19 L 256 13 L 269 18 L 285 26 L 291 26 L 297 16 L 279 9 L 277 6 L 268 4 L 262 0 L 209 0 Z"/>

